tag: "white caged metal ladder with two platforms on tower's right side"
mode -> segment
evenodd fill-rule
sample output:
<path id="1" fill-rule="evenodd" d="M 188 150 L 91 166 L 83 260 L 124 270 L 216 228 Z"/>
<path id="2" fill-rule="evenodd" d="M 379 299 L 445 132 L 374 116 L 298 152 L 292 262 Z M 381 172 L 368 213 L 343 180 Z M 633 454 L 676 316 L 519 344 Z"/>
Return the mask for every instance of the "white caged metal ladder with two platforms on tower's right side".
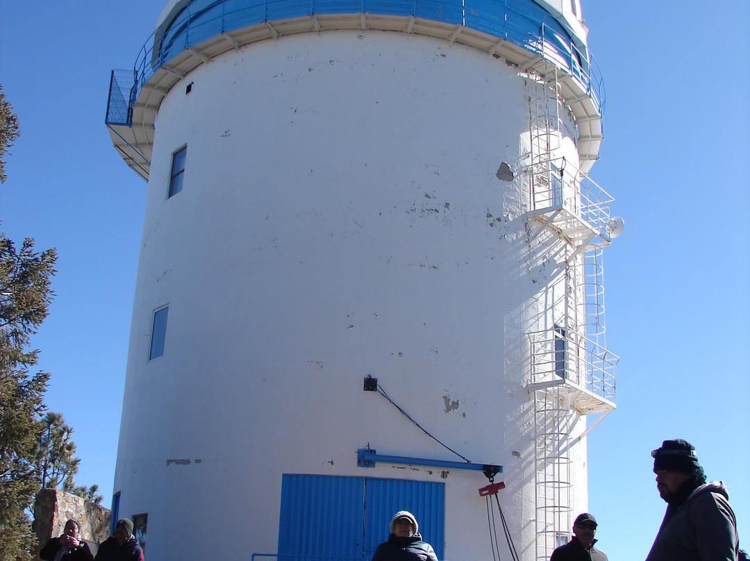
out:
<path id="1" fill-rule="evenodd" d="M 545 239 L 562 244 L 565 255 L 559 281 L 564 296 L 547 305 L 542 329 L 527 334 L 535 415 L 536 557 L 546 561 L 567 541 L 572 526 L 572 447 L 615 408 L 619 357 L 604 347 L 601 249 L 610 243 L 613 198 L 562 156 L 565 107 L 556 68 L 549 65 L 543 74 L 529 74 L 529 80 L 529 243 L 544 233 Z M 574 434 L 580 416 L 588 415 L 598 419 Z"/>

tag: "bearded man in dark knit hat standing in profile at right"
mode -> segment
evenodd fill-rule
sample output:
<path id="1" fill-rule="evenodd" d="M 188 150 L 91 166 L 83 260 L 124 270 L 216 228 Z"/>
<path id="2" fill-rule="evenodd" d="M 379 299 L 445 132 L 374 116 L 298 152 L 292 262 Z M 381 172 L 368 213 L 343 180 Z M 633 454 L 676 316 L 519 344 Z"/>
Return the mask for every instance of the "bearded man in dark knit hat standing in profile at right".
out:
<path id="1" fill-rule="evenodd" d="M 695 449 L 685 440 L 664 440 L 651 455 L 667 512 L 646 561 L 736 561 L 739 542 L 727 487 L 706 483 Z"/>

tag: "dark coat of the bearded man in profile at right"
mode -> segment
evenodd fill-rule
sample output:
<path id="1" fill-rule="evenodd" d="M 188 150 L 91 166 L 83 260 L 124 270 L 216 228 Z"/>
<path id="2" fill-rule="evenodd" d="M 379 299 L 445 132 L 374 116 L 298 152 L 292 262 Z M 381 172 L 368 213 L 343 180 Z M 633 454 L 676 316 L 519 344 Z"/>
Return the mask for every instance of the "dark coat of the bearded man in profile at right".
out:
<path id="1" fill-rule="evenodd" d="M 735 561 L 739 544 L 727 487 L 713 481 L 670 504 L 646 561 Z"/>

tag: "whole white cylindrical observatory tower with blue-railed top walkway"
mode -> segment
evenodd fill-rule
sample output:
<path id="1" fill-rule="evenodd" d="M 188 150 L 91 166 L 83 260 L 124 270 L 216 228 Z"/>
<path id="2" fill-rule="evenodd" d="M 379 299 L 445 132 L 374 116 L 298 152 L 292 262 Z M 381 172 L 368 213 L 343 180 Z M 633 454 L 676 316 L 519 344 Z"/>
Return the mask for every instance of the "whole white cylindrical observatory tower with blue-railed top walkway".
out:
<path id="1" fill-rule="evenodd" d="M 113 497 L 146 559 L 369 561 L 401 509 L 441 561 L 567 540 L 617 362 L 586 32 L 169 1 L 107 109 L 148 181 Z"/>

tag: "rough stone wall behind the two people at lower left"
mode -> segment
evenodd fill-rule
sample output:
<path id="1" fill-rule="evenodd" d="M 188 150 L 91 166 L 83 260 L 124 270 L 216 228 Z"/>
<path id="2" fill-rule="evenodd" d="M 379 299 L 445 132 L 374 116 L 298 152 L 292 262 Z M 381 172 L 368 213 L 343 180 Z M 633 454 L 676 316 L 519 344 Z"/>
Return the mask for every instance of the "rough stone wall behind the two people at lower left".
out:
<path id="1" fill-rule="evenodd" d="M 61 535 L 70 518 L 81 523 L 81 538 L 90 544 L 99 544 L 110 537 L 111 515 L 108 508 L 86 502 L 80 496 L 57 489 L 41 489 L 34 502 L 32 526 L 39 541 L 37 551 L 49 538 Z"/>

